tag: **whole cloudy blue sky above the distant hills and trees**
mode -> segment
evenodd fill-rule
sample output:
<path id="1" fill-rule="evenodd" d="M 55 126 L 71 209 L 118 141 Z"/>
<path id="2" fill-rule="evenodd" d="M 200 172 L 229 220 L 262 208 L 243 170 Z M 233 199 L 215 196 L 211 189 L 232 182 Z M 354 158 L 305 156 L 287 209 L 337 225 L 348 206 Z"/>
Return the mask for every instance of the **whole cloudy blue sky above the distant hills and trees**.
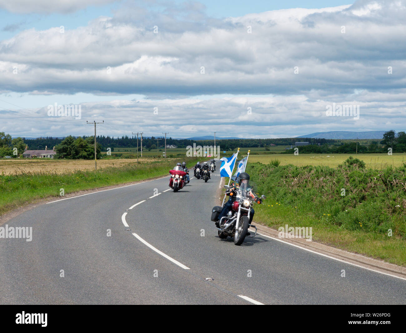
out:
<path id="1" fill-rule="evenodd" d="M 405 131 L 404 17 L 406 0 L 0 0 L 0 132 Z"/>

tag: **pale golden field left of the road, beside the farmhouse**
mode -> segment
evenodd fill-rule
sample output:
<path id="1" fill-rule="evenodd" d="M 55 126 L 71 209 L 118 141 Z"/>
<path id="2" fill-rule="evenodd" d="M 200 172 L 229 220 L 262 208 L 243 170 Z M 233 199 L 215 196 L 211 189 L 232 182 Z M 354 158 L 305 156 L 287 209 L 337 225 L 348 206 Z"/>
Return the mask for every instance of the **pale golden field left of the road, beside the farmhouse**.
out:
<path id="1" fill-rule="evenodd" d="M 156 161 L 156 159 L 140 158 L 140 163 Z M 121 167 L 137 163 L 137 159 L 100 159 L 97 160 L 97 170 L 106 167 Z M 94 160 L 84 159 L 0 159 L 0 174 L 23 172 L 56 172 L 64 173 L 76 170 L 94 170 Z"/>

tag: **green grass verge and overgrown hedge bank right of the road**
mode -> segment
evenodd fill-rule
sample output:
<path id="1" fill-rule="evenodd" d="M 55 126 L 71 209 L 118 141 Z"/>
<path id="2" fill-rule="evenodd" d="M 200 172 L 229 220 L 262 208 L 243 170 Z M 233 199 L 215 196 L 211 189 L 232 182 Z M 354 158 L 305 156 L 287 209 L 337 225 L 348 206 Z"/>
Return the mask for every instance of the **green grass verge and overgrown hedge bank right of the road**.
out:
<path id="1" fill-rule="evenodd" d="M 313 241 L 406 266 L 405 167 L 385 170 L 247 166 L 257 192 L 255 220 L 279 227 L 312 227 Z M 342 189 L 346 189 L 346 195 Z"/>

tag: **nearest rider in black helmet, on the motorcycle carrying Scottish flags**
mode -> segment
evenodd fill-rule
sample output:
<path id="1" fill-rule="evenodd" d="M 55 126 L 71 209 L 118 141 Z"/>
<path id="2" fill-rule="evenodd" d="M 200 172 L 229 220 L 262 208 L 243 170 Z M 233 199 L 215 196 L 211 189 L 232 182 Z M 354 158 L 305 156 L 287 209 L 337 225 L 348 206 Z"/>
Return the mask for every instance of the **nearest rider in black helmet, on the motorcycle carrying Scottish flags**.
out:
<path id="1" fill-rule="evenodd" d="M 227 216 L 228 212 L 231 210 L 231 206 L 233 205 L 233 202 L 237 200 L 236 195 L 237 195 L 237 190 L 242 191 L 242 194 L 247 197 L 254 198 L 255 202 L 262 203 L 262 199 L 258 198 L 258 196 L 253 192 L 253 189 L 249 185 L 250 181 L 250 175 L 247 174 L 246 172 L 241 172 L 240 175 L 238 176 L 238 183 L 231 183 L 230 189 L 227 190 L 226 194 L 230 196 L 229 200 L 225 203 L 220 215 L 218 215 L 218 221 L 215 223 L 217 228 L 220 228 L 220 220 L 222 217 Z M 254 218 L 255 211 L 253 208 L 251 208 L 251 213 L 250 213 L 250 220 L 249 224 L 251 224 L 253 218 Z M 250 233 L 247 232 L 247 236 L 249 236 Z"/>

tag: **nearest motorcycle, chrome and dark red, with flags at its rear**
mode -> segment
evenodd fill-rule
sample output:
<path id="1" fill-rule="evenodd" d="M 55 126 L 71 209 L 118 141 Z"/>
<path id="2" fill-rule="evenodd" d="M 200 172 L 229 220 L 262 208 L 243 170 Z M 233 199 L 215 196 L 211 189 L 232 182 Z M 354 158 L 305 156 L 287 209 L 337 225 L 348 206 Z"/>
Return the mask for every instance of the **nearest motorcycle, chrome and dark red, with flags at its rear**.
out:
<path id="1" fill-rule="evenodd" d="M 225 185 L 224 187 L 225 189 L 230 189 L 229 185 Z M 266 196 L 262 195 L 261 199 L 266 199 Z M 257 201 L 257 203 L 260 202 L 261 201 Z M 227 216 L 222 217 L 219 221 L 220 228 L 217 228 L 218 237 L 221 239 L 233 237 L 235 245 L 241 245 L 245 237 L 255 237 L 255 235 L 257 235 L 257 227 L 253 224 L 249 224 L 253 204 L 254 198 L 243 196 L 242 191 L 238 190 L 236 200 L 233 202 L 231 210 Z M 216 222 L 218 220 L 218 215 L 220 215 L 221 211 L 221 206 L 213 207 L 212 221 Z M 253 236 L 246 236 L 250 226 L 255 228 L 255 234 Z"/>

